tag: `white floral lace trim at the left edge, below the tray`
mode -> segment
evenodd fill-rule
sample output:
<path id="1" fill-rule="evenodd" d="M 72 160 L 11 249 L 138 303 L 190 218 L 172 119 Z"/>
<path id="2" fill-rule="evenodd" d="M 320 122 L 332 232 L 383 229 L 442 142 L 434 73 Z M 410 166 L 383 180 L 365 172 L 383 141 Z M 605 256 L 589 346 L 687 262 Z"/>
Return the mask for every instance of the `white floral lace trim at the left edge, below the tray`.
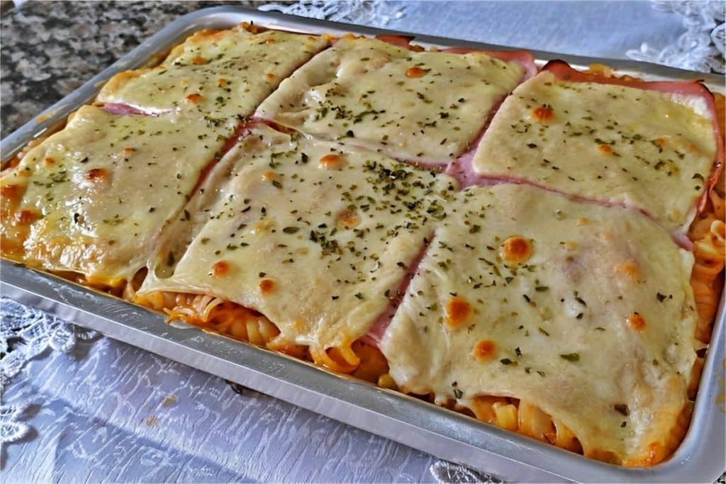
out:
<path id="1" fill-rule="evenodd" d="M 78 340 L 98 336 L 95 331 L 8 298 L 0 298 L 0 317 L 0 395 L 31 358 L 48 348 L 68 353 Z M 0 405 L 0 443 L 14 442 L 28 434 L 28 424 L 19 422 L 24 411 L 24 406 Z"/>

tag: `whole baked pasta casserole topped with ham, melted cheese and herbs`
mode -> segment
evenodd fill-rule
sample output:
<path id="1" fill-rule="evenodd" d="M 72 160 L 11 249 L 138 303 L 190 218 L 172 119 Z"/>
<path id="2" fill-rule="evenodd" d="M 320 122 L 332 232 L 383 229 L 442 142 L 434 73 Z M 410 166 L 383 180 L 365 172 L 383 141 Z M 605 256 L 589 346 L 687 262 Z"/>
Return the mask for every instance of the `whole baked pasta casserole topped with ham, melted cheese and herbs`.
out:
<path id="1" fill-rule="evenodd" d="M 723 97 L 528 52 L 203 30 L 4 168 L 4 258 L 613 464 L 690 422 Z"/>

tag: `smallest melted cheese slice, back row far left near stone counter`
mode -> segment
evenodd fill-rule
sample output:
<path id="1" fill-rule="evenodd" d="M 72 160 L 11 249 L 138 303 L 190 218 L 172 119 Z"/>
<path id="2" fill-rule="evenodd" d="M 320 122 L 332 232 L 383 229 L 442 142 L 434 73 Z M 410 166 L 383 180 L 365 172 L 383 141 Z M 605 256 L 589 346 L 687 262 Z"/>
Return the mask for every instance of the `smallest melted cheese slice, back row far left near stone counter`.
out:
<path id="1" fill-rule="evenodd" d="M 115 75 L 97 101 L 144 112 L 200 112 L 222 119 L 250 115 L 283 78 L 325 45 L 320 37 L 277 30 L 202 30 L 158 67 Z"/>

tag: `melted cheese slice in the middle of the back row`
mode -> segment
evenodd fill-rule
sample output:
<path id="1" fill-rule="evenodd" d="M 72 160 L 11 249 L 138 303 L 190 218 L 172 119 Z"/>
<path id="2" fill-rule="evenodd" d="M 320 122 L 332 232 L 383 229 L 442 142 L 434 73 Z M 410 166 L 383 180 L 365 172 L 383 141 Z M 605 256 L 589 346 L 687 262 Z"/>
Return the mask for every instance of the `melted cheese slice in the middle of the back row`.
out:
<path id="1" fill-rule="evenodd" d="M 482 52 L 345 39 L 283 81 L 257 114 L 399 160 L 445 163 L 468 149 L 523 74 Z"/>

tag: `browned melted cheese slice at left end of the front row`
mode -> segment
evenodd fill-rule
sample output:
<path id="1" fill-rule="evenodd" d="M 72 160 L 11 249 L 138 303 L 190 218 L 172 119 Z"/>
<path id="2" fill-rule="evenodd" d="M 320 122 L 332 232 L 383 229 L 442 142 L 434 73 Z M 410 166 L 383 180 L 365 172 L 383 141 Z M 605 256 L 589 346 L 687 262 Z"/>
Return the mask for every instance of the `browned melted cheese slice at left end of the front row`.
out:
<path id="1" fill-rule="evenodd" d="M 81 107 L 0 179 L 3 254 L 131 279 L 229 134 L 196 120 Z"/>

